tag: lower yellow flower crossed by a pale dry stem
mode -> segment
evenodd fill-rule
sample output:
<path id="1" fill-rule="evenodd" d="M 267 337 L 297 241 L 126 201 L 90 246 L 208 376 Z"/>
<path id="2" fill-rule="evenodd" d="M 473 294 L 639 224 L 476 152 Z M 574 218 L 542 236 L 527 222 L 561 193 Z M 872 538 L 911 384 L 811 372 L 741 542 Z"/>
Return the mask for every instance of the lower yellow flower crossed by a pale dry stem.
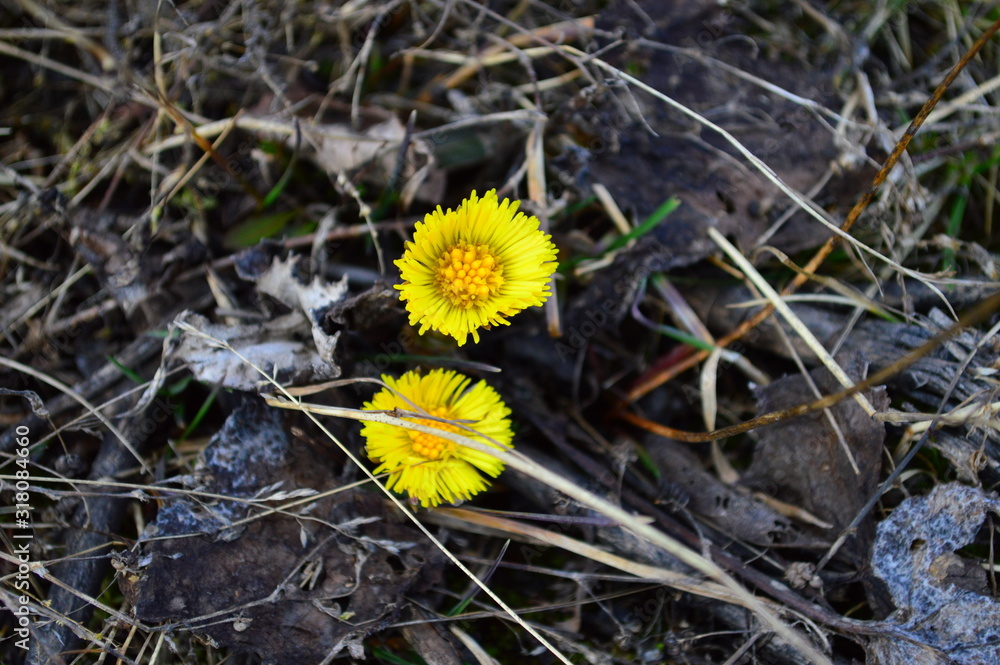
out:
<path id="1" fill-rule="evenodd" d="M 485 381 L 470 388 L 469 377 L 441 369 L 424 376 L 407 372 L 398 379 L 383 375 L 382 380 L 389 388 L 365 402 L 365 410 L 399 408 L 412 412 L 416 405 L 436 418 L 471 421 L 463 425 L 482 436 L 437 420 L 408 418 L 412 422 L 463 434 L 498 449 L 512 447 L 514 434 L 507 417 L 510 409 Z M 389 474 L 386 487 L 406 491 L 411 501 L 425 507 L 471 498 L 489 486 L 480 471 L 495 478 L 504 467 L 503 462 L 487 453 L 395 425 L 365 422 L 361 434 L 367 441 L 368 457 L 379 463 L 375 473 Z"/>

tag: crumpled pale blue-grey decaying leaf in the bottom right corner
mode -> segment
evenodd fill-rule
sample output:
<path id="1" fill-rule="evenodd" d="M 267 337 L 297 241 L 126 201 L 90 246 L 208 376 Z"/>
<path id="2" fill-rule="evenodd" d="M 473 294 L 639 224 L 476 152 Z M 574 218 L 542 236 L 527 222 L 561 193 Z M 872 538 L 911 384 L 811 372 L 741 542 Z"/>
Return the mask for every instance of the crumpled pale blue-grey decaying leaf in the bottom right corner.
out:
<path id="1" fill-rule="evenodd" d="M 956 554 L 987 512 L 1000 514 L 996 494 L 952 483 L 903 501 L 879 524 L 872 570 L 896 605 L 889 620 L 913 639 L 873 640 L 871 665 L 1000 662 L 1000 603 L 985 571 Z"/>

